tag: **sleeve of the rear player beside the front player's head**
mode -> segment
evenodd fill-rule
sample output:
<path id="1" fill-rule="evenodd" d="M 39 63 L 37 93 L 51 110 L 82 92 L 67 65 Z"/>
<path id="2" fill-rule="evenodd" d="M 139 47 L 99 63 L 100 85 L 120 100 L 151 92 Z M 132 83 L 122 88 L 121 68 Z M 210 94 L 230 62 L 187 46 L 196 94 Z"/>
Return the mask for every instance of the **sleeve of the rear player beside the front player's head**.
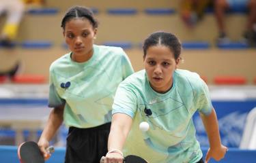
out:
<path id="1" fill-rule="evenodd" d="M 123 79 L 125 79 L 126 77 L 128 77 L 129 75 L 134 73 L 134 70 L 132 68 L 130 59 L 128 58 L 128 56 L 126 55 L 124 50 L 122 50 L 122 52 L 124 53 L 122 55 L 122 75 L 123 75 L 122 77 L 123 77 Z"/>

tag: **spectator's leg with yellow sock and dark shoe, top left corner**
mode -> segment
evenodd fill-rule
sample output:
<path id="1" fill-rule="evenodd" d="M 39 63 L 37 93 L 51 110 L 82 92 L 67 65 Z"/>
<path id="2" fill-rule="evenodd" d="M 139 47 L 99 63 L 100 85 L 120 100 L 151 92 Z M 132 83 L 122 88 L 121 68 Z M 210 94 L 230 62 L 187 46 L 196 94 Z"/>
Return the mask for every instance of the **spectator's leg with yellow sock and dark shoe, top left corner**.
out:
<path id="1" fill-rule="evenodd" d="M 7 16 L 0 34 L 1 46 L 12 47 L 24 11 L 25 3 L 22 0 L 0 0 L 0 15 L 6 13 Z"/>

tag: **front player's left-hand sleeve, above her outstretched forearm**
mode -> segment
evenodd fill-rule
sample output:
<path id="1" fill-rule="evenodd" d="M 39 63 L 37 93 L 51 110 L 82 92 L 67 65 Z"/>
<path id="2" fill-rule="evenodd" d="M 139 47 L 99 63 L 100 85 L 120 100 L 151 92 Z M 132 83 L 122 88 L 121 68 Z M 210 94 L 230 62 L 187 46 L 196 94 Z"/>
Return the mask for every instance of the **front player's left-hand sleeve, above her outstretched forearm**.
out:
<path id="1" fill-rule="evenodd" d="M 113 110 L 114 113 L 125 113 L 134 117 L 137 111 L 137 96 L 128 84 L 121 83 L 115 93 Z"/>

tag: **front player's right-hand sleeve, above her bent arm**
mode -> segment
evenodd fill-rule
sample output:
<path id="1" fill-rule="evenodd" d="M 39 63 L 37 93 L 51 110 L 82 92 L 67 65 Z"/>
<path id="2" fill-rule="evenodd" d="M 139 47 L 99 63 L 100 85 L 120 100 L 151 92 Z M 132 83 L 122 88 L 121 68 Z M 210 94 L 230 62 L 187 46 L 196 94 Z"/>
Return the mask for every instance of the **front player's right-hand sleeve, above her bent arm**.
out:
<path id="1" fill-rule="evenodd" d="M 208 86 L 201 79 L 201 88 L 199 88 L 199 97 L 197 98 L 197 110 L 204 115 L 212 112 L 212 101 Z"/>

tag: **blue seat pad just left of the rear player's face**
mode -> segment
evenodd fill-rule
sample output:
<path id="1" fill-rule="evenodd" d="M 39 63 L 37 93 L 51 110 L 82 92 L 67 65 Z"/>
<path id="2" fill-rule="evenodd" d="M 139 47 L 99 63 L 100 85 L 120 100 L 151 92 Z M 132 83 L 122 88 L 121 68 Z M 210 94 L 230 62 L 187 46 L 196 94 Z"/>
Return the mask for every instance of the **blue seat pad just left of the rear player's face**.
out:
<path id="1" fill-rule="evenodd" d="M 53 43 L 51 41 L 23 41 L 21 47 L 25 49 L 45 49 L 51 48 Z"/>

